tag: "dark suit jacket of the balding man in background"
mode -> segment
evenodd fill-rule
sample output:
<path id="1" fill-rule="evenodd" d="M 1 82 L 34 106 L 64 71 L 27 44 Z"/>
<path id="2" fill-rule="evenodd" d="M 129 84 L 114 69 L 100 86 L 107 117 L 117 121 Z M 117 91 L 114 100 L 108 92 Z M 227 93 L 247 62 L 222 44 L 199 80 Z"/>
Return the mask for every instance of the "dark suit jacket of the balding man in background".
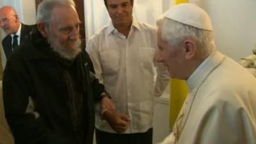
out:
<path id="1" fill-rule="evenodd" d="M 28 26 L 25 24 L 21 24 L 20 44 L 22 44 L 22 42 L 24 42 L 26 36 L 29 34 L 29 32 L 33 31 L 33 29 L 36 29 L 36 25 Z M 6 56 L 6 59 L 8 59 L 12 52 L 12 36 L 6 35 L 2 41 L 2 45 L 3 45 L 4 54 Z"/>

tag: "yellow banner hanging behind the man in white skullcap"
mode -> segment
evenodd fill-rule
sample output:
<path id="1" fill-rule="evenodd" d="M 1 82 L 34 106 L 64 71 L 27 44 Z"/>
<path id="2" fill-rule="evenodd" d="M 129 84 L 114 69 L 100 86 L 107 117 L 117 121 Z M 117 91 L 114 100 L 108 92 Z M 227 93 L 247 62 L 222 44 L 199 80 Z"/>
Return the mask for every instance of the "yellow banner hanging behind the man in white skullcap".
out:
<path id="1" fill-rule="evenodd" d="M 175 4 L 188 3 L 188 0 L 176 0 Z M 171 79 L 171 93 L 170 93 L 170 128 L 176 121 L 180 113 L 180 109 L 188 95 L 188 86 L 185 81 L 180 79 Z"/>

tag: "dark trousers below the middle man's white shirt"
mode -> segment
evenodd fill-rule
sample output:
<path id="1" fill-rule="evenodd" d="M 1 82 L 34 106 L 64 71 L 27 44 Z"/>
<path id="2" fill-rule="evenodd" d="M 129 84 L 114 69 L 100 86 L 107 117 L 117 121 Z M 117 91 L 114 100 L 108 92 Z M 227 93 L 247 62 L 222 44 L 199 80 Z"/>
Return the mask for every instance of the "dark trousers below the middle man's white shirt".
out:
<path id="1" fill-rule="evenodd" d="M 153 129 L 133 134 L 113 134 L 95 129 L 97 144 L 152 144 Z"/>

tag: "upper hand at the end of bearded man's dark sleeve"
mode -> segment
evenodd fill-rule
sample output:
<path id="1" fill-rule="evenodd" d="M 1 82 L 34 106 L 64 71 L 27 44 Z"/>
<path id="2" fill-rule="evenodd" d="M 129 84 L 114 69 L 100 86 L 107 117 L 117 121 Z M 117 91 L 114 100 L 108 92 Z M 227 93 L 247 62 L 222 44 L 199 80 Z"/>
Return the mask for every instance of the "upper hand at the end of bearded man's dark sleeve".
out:
<path id="1" fill-rule="evenodd" d="M 106 111 L 115 111 L 116 105 L 109 97 L 103 97 L 101 100 L 100 113 L 103 115 Z"/>

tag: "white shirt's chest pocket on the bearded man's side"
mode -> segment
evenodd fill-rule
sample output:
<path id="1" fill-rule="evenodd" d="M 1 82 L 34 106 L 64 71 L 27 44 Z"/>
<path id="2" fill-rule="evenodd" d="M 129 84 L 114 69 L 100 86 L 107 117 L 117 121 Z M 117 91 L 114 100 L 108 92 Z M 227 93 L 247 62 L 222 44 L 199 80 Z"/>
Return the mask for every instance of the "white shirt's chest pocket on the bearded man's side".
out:
<path id="1" fill-rule="evenodd" d="M 102 72 L 104 74 L 113 74 L 118 70 L 118 54 L 116 51 L 108 50 L 100 54 L 102 62 Z"/>

